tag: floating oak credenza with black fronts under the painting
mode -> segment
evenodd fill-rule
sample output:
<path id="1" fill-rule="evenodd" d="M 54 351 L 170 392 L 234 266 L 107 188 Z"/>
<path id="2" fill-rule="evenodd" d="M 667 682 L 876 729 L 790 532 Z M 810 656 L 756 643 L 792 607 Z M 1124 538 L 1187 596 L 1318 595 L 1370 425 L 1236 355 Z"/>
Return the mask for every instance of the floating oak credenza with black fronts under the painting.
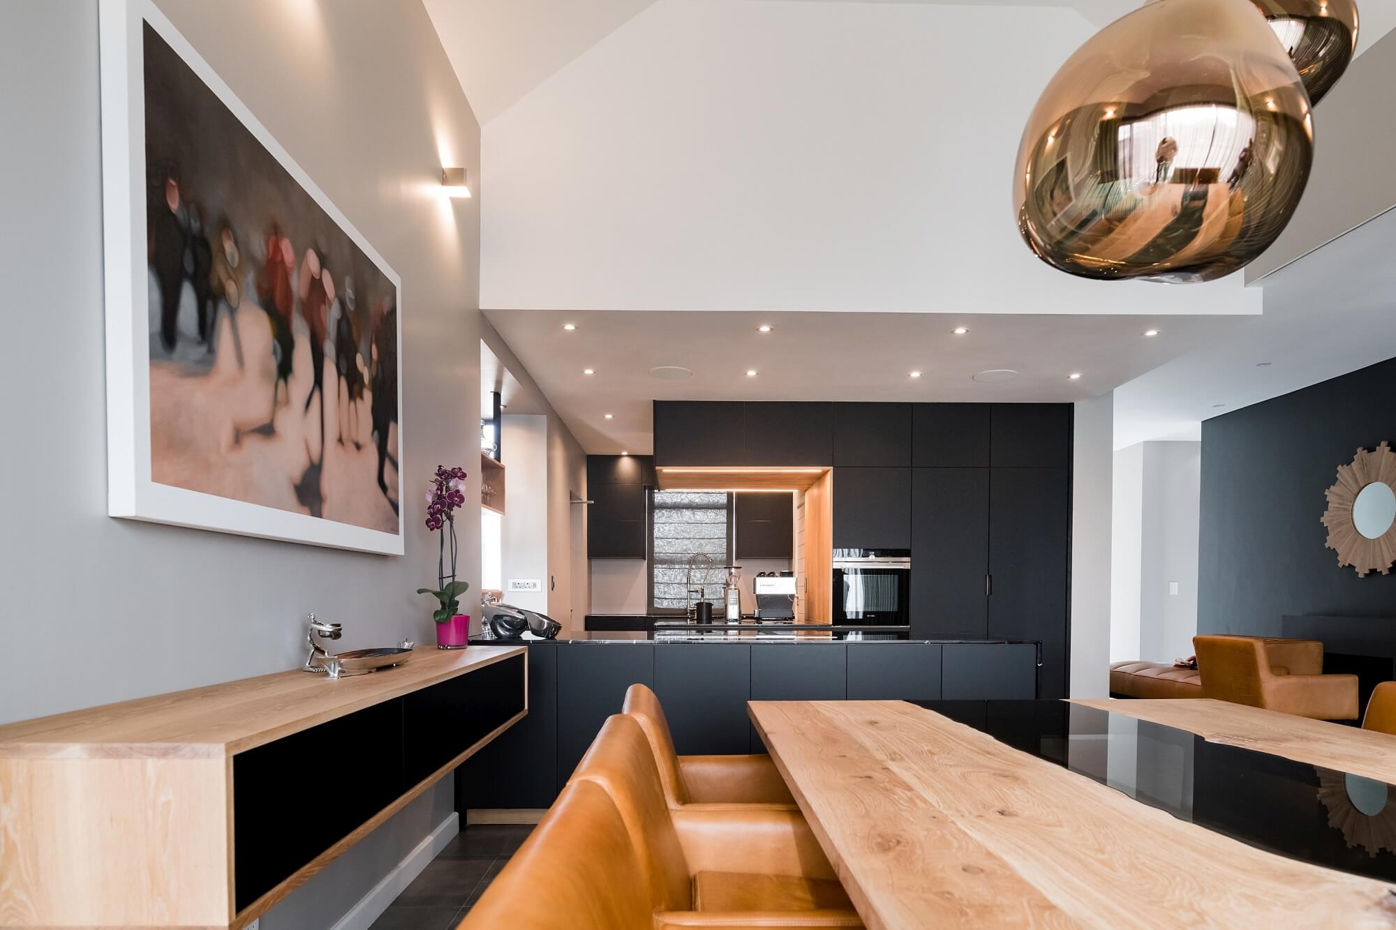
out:
<path id="1" fill-rule="evenodd" d="M 0 726 L 0 927 L 242 927 L 526 712 L 522 647 L 419 647 Z"/>

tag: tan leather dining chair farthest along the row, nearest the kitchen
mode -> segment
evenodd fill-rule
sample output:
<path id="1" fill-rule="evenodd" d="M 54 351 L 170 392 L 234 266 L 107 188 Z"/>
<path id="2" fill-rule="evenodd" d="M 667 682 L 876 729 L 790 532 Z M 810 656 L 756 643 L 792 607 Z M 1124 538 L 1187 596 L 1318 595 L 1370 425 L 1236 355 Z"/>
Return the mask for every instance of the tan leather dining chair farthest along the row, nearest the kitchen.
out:
<path id="1" fill-rule="evenodd" d="M 621 714 L 639 723 L 659 765 L 670 807 L 684 804 L 783 804 L 794 797 L 769 755 L 678 755 L 659 698 L 644 684 L 625 690 Z"/>

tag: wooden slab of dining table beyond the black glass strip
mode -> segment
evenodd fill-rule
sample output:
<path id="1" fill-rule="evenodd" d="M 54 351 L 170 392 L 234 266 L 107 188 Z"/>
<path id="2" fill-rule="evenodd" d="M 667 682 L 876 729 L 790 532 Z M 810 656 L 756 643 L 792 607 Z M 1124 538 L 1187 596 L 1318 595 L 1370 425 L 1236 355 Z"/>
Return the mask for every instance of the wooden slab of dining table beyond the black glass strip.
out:
<path id="1" fill-rule="evenodd" d="M 1396 785 L 1396 736 L 1230 701 L 1078 700 L 1072 704 L 1125 714 L 1196 733 L 1209 743 L 1283 755 Z"/>

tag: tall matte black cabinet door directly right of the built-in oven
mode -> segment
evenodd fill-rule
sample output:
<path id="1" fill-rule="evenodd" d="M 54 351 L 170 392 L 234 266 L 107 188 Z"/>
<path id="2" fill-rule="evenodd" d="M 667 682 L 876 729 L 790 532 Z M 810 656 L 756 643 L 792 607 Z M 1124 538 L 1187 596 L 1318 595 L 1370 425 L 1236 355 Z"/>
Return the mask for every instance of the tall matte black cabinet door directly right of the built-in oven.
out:
<path id="1" fill-rule="evenodd" d="M 983 638 L 988 469 L 912 471 L 912 638 Z"/>

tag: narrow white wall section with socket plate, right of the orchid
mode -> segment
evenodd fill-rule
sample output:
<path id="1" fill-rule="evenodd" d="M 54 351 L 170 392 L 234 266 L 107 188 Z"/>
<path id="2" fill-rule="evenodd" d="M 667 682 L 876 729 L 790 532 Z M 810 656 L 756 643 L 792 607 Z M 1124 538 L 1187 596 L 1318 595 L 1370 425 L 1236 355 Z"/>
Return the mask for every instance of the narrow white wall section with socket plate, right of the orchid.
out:
<path id="1" fill-rule="evenodd" d="M 504 600 L 547 613 L 547 418 L 505 413 L 500 418 L 504 455 L 501 552 Z M 537 591 L 511 591 L 510 582 L 532 580 Z"/>

